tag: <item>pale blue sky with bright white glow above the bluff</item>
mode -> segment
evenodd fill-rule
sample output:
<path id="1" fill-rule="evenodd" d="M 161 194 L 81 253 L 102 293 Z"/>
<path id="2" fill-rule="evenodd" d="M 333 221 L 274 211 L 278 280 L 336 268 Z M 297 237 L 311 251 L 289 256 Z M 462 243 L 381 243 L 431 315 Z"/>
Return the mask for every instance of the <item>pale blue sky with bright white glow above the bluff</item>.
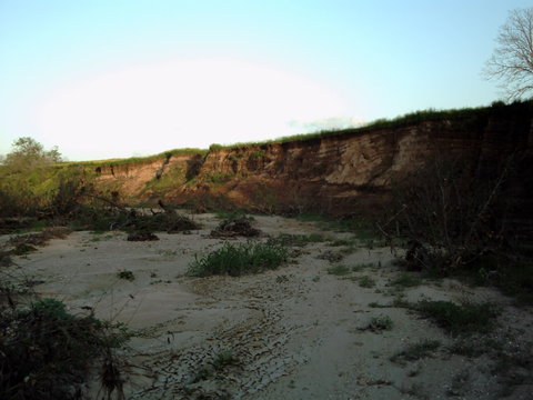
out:
<path id="1" fill-rule="evenodd" d="M 531 0 L 0 0 L 0 154 L 71 161 L 360 126 L 503 97 Z"/>

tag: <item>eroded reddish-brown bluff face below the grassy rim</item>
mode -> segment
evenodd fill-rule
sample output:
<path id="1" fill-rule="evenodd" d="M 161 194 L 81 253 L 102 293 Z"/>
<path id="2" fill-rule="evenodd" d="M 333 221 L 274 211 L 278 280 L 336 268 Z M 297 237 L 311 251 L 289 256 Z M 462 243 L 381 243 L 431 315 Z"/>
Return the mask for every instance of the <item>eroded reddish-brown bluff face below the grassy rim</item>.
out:
<path id="1" fill-rule="evenodd" d="M 461 158 L 480 174 L 513 154 L 513 196 L 533 192 L 533 104 L 414 114 L 369 128 L 207 153 L 102 163 L 98 187 L 130 203 L 351 213 L 381 204 L 391 183 L 432 157 Z M 533 209 L 533 207 L 532 207 Z"/>

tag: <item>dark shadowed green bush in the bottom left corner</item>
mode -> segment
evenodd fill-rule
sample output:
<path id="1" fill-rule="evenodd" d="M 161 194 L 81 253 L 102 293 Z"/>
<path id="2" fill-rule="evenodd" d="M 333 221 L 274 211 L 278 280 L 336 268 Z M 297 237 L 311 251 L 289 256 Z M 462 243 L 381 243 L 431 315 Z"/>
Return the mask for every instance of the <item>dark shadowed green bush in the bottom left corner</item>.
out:
<path id="1" fill-rule="evenodd" d="M 81 398 L 91 367 L 102 366 L 108 394 L 122 393 L 114 350 L 129 339 L 123 326 L 78 317 L 56 299 L 0 314 L 0 398 L 71 400 Z M 110 371 L 112 374 L 110 374 Z"/>

